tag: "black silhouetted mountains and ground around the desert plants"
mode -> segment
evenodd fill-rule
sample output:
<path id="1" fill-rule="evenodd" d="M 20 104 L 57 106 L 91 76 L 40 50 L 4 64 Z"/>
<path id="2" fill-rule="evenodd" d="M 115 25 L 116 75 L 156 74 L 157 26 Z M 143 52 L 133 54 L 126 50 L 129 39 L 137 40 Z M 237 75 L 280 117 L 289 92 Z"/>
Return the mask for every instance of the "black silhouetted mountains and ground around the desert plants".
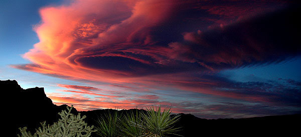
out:
<path id="1" fill-rule="evenodd" d="M 35 128 L 40 126 L 40 122 L 47 121 L 52 124 L 57 121 L 60 116 L 57 114 L 66 109 L 66 104 L 57 106 L 48 98 L 43 87 L 35 87 L 23 89 L 16 80 L 0 80 L 0 88 L 4 108 L 5 121 L 11 134 L 8 136 L 16 136 L 19 127 L 27 126 L 31 132 L 35 132 Z M 5 98 L 7 97 L 7 98 Z M 8 100 L 9 99 L 9 100 Z M 119 110 L 123 113 L 130 110 Z M 73 109 L 73 113 L 80 112 L 86 115 L 86 122 L 93 124 L 97 116 L 107 111 L 116 111 L 113 109 L 98 109 L 92 111 L 77 111 Z M 139 112 L 145 110 L 139 109 Z M 182 130 L 178 134 L 184 136 L 212 136 L 212 135 L 229 135 L 229 136 L 299 136 L 301 114 L 294 115 L 275 115 L 252 118 L 239 119 L 203 119 L 192 114 L 181 113 L 180 121 L 176 126 L 181 126 Z M 92 136 L 97 136 L 92 134 Z"/>

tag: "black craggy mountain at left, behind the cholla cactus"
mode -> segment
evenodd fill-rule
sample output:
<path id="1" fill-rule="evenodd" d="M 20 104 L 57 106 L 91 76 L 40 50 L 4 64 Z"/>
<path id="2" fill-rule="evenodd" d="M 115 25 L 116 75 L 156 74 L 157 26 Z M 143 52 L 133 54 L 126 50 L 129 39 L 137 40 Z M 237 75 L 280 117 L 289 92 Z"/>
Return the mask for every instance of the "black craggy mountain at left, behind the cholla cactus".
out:
<path id="1" fill-rule="evenodd" d="M 27 126 L 31 132 L 39 127 L 40 122 L 52 124 L 58 118 L 58 112 L 66 109 L 67 105 L 57 106 L 46 96 L 44 87 L 23 89 L 16 80 L 0 80 L 4 96 L 10 98 L 5 105 L 5 117 L 12 119 L 13 127 L 19 132 L 19 127 Z M 73 112 L 77 112 L 76 109 Z M 16 132 L 14 132 L 15 136 Z"/>

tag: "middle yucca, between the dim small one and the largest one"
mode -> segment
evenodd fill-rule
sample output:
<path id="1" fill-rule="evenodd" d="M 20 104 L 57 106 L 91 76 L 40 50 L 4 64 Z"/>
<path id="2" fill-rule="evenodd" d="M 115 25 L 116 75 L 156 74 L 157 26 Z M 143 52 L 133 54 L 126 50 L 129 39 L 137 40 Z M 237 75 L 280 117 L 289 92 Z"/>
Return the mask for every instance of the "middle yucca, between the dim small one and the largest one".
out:
<path id="1" fill-rule="evenodd" d="M 120 127 L 120 136 L 145 136 L 146 132 L 143 128 L 139 128 L 139 126 L 144 126 L 144 123 L 142 121 L 142 114 L 138 112 L 136 109 L 136 112 L 134 114 L 133 111 L 131 111 L 129 114 L 126 113 L 123 116 L 123 119 L 120 119 L 121 127 Z"/>

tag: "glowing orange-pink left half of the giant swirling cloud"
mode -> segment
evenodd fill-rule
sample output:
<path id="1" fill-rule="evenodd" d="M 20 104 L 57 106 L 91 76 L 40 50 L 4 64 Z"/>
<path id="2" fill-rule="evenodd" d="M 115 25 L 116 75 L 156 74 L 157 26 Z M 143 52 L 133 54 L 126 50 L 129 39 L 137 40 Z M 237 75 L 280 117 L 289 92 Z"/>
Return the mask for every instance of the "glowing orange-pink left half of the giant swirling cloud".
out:
<path id="1" fill-rule="evenodd" d="M 42 8 L 35 27 L 40 42 L 24 54 L 34 64 L 20 67 L 90 80 L 155 67 L 160 51 L 149 55 L 142 47 L 153 44 L 150 27 L 164 22 L 173 6 L 169 0 L 77 0 Z"/>

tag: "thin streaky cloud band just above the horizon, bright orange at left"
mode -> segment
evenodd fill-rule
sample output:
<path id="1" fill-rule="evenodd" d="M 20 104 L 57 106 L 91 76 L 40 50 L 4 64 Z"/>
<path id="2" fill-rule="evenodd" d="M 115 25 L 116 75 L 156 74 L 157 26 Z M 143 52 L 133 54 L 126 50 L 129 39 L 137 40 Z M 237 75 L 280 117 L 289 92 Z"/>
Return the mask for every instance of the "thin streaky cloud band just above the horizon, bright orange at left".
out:
<path id="1" fill-rule="evenodd" d="M 94 110 L 100 108 L 146 108 L 152 105 L 161 104 L 163 108 L 172 107 L 173 112 L 192 113 L 199 117 L 205 118 L 239 118 L 239 117 L 254 117 L 276 114 L 294 114 L 299 113 L 300 108 L 295 106 L 271 106 L 254 102 L 241 102 L 241 101 L 220 101 L 216 104 L 204 104 L 192 101 L 156 101 L 145 99 L 122 99 L 119 101 L 111 101 L 109 99 L 92 99 L 82 95 L 61 95 L 51 94 L 48 95 L 55 104 L 73 104 L 78 110 Z M 293 107 L 293 109 L 292 109 Z"/>

